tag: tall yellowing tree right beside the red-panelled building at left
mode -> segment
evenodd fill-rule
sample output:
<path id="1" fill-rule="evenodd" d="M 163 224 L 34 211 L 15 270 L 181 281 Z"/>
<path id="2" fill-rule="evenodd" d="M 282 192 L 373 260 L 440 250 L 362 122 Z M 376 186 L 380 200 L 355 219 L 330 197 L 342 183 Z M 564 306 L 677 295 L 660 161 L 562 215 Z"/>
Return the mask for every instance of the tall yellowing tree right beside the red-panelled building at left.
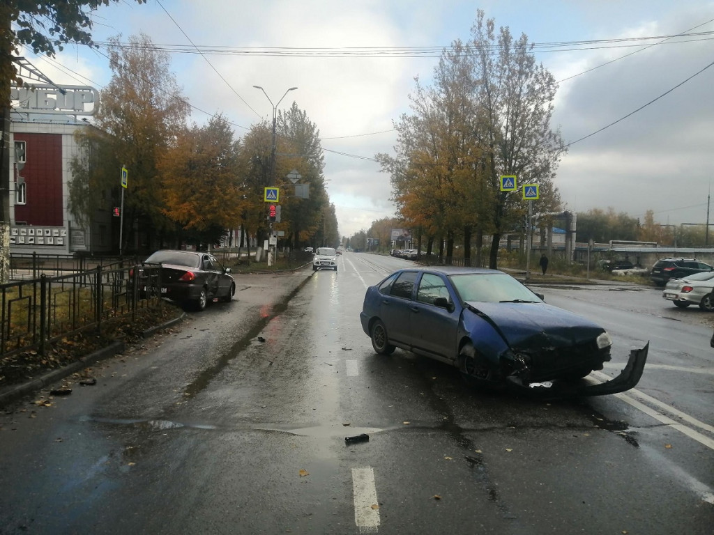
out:
<path id="1" fill-rule="evenodd" d="M 124 244 L 127 251 L 150 251 L 175 243 L 174 221 L 166 216 L 159 160 L 186 130 L 188 103 L 181 95 L 170 57 L 156 49 L 148 36 L 110 39 L 111 80 L 101 91 L 101 107 L 94 116 L 97 129 L 88 131 L 80 145 L 86 151 L 72 165 L 76 175 L 69 185 L 69 208 L 77 217 L 91 218 L 93 210 L 119 206 L 119 170 L 129 170 L 124 195 Z M 111 158 L 101 168 L 91 168 L 89 152 L 96 145 L 108 146 Z M 85 195 L 102 202 L 89 203 Z"/>

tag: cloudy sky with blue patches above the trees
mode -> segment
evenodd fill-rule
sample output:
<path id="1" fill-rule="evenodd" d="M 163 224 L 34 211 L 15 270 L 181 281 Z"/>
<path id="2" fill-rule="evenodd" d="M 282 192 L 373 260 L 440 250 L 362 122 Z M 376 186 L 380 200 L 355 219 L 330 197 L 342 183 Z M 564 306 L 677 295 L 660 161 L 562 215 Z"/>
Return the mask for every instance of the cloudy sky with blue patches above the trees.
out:
<path id="1" fill-rule="evenodd" d="M 339 231 L 349 236 L 395 215 L 389 177 L 373 156 L 393 154 L 393 121 L 409 111 L 414 77 L 428 83 L 438 62 L 415 47 L 438 51 L 468 40 L 477 9 L 515 36 L 561 44 L 537 47 L 536 58 L 560 81 L 553 127 L 572 143 L 555 180 L 564 208 L 611 207 L 637 218 L 653 210 L 658 223 L 706 222 L 714 182 L 714 1 L 121 0 L 96 12 L 94 39 L 144 32 L 159 45 L 236 47 L 171 57 L 193 121 L 223 113 L 237 136 L 271 118 L 271 104 L 253 86 L 263 86 L 273 103 L 298 87 L 280 108 L 295 101 L 318 126 L 328 194 Z M 694 32 L 702 35 L 665 40 Z M 615 39 L 626 41 L 603 42 Z M 596 42 L 562 45 L 568 41 Z M 334 54 L 353 47 L 408 47 L 411 54 Z M 257 53 L 264 48 L 277 54 Z M 102 88 L 111 74 L 106 58 L 84 47 L 69 46 L 49 63 L 23 54 L 55 83 Z"/>

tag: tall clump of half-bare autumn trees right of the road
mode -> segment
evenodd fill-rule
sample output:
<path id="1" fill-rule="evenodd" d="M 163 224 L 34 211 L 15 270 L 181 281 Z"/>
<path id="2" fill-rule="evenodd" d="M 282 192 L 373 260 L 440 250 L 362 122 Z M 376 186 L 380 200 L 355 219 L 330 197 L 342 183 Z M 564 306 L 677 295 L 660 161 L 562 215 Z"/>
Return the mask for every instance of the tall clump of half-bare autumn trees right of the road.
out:
<path id="1" fill-rule="evenodd" d="M 488 265 L 497 267 L 501 235 L 520 228 L 528 208 L 520 191 L 501 191 L 501 175 L 540 185 L 536 213 L 558 210 L 553 178 L 565 148 L 550 128 L 556 87 L 535 63 L 528 38 L 513 39 L 507 27 L 496 32 L 481 10 L 471 40 L 443 52 L 433 86 L 417 80 L 412 113 L 395 124 L 396 157 L 377 158 L 391 175 L 401 215 L 438 240 L 440 256 L 451 257 L 460 240 L 468 263 L 472 233 L 477 255 L 486 234 Z"/>

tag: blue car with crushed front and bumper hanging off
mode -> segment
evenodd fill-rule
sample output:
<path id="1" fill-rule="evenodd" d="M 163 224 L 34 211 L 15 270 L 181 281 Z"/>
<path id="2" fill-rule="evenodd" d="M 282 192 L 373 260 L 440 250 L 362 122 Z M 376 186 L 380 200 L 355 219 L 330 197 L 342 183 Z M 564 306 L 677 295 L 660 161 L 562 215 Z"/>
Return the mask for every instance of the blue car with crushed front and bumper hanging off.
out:
<path id="1" fill-rule="evenodd" d="M 613 394 L 637 384 L 648 353 L 648 345 L 630 352 L 627 367 L 611 381 L 580 384 L 578 379 L 610 360 L 608 332 L 548 305 L 498 270 L 399 270 L 367 289 L 360 320 L 378 354 L 400 347 L 431 357 L 458 367 L 476 386 Z"/>

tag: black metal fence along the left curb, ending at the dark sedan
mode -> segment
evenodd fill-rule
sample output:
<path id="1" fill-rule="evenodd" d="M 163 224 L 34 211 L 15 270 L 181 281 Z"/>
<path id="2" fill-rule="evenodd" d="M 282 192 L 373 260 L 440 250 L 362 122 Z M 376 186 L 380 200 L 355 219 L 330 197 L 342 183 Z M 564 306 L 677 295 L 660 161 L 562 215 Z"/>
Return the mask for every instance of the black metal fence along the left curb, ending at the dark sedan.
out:
<path id="1" fill-rule="evenodd" d="M 56 340 L 101 329 L 109 320 L 136 319 L 144 307 L 161 306 L 159 266 L 145 266 L 150 282 L 136 284 L 131 267 L 101 267 L 71 275 L 40 275 L 0 285 L 0 356 L 38 350 L 45 355 Z M 154 281 L 156 284 L 154 284 Z"/>

